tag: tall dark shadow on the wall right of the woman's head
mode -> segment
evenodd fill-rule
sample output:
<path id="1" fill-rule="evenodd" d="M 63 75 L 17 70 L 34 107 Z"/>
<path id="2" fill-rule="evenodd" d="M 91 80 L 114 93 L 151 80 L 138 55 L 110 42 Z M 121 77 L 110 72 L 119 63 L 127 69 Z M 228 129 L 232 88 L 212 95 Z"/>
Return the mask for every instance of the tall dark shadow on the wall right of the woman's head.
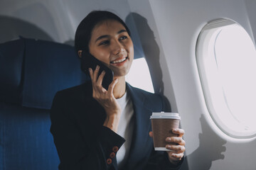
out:
<path id="1" fill-rule="evenodd" d="M 164 94 L 163 74 L 159 62 L 160 50 L 159 45 L 156 43 L 154 32 L 149 28 L 146 18 L 138 13 L 129 13 L 125 22 L 134 23 L 136 26 L 145 59 L 149 65 L 151 79 L 154 82 L 154 92 L 156 94 Z"/>

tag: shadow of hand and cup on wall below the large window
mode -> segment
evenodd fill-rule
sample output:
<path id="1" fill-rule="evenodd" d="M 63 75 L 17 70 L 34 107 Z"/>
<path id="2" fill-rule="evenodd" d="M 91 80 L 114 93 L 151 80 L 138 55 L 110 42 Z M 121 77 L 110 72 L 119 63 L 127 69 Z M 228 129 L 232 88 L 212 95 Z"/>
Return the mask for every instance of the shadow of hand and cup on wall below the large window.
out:
<path id="1" fill-rule="evenodd" d="M 181 169 L 203 169 L 208 170 L 212 162 L 218 159 L 224 159 L 227 141 L 221 139 L 208 125 L 204 115 L 201 115 L 202 133 L 199 133 L 199 147 L 186 157 Z M 190 162 L 188 164 L 188 162 Z"/>

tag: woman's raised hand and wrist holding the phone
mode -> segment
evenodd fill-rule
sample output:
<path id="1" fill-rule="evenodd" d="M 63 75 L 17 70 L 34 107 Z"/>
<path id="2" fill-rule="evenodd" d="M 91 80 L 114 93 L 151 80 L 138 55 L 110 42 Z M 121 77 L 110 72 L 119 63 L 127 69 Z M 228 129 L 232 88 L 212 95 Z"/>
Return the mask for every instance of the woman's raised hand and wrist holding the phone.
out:
<path id="1" fill-rule="evenodd" d="M 105 76 L 105 71 L 98 76 L 99 70 L 99 66 L 96 67 L 94 72 L 91 68 L 89 69 L 90 77 L 92 79 L 92 97 L 95 98 L 95 100 L 99 102 L 106 111 L 107 118 L 103 125 L 112 129 L 114 132 L 117 132 L 121 108 L 117 103 L 117 99 L 114 98 L 113 90 L 118 79 L 112 81 L 108 90 L 106 90 L 102 87 L 102 80 Z"/>

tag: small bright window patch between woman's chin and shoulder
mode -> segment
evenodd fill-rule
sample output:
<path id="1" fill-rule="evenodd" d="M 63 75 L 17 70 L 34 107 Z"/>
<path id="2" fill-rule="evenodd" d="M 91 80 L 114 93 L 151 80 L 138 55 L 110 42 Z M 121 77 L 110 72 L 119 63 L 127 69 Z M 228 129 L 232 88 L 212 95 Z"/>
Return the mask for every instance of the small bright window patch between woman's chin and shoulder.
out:
<path id="1" fill-rule="evenodd" d="M 133 61 L 132 67 L 125 79 L 134 87 L 154 93 L 149 67 L 144 57 Z"/>

